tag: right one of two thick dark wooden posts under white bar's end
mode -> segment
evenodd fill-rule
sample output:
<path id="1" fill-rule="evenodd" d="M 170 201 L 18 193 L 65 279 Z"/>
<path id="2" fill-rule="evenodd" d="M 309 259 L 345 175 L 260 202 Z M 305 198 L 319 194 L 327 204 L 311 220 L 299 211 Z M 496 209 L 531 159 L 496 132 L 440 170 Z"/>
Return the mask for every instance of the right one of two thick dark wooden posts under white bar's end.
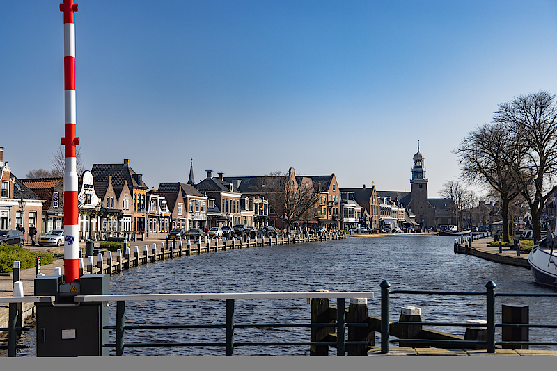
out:
<path id="1" fill-rule="evenodd" d="M 368 322 L 368 299 L 365 297 L 351 297 L 346 322 L 366 323 Z M 375 331 L 370 327 L 348 327 L 348 341 L 367 341 L 368 344 L 347 345 L 346 351 L 349 356 L 367 356 L 368 347 L 375 345 Z"/>

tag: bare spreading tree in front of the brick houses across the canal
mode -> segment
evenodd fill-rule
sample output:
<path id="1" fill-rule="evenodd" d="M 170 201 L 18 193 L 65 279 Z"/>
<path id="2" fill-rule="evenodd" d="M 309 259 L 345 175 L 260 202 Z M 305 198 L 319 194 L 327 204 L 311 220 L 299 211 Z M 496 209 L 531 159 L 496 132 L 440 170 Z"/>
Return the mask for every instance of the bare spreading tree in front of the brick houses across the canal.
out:
<path id="1" fill-rule="evenodd" d="M 294 222 L 307 220 L 313 215 L 317 204 L 311 179 L 302 177 L 298 183 L 293 174 L 272 172 L 262 179 L 259 190 L 267 193 L 269 208 L 286 223 L 287 231 Z"/>

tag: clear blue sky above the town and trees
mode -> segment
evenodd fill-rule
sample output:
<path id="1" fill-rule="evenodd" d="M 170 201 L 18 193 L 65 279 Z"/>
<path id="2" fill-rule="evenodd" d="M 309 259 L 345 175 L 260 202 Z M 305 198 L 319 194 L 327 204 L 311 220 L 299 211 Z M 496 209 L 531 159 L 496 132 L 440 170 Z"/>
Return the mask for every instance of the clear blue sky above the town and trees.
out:
<path id="1" fill-rule="evenodd" d="M 77 135 L 86 168 L 150 187 L 335 173 L 409 190 L 418 140 L 430 197 L 460 140 L 519 94 L 557 93 L 557 2 L 77 0 Z M 58 1 L 0 2 L 0 146 L 16 176 L 63 135 Z"/>

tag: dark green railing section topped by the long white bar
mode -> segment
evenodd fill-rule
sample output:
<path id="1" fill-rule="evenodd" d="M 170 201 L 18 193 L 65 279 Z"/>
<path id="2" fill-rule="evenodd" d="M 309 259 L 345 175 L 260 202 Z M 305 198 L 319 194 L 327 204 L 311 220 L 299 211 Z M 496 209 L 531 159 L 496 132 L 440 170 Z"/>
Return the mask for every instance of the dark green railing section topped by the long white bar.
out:
<path id="1" fill-rule="evenodd" d="M 75 302 L 116 302 L 116 326 L 107 326 L 104 329 L 116 330 L 115 343 L 102 345 L 103 347 L 116 348 L 116 356 L 122 356 L 125 347 L 225 347 L 226 356 L 233 356 L 235 347 L 245 346 L 311 346 L 329 345 L 336 346 L 337 356 L 344 356 L 346 345 L 363 345 L 366 341 L 347 341 L 345 330 L 347 327 L 367 327 L 367 323 L 346 323 L 345 299 L 347 298 L 373 298 L 372 292 L 243 292 L 243 293 L 202 293 L 202 294 L 139 294 L 139 295 L 78 295 Z M 334 323 L 260 323 L 236 324 L 235 300 L 236 299 L 323 299 L 336 298 L 339 310 Z M 125 302 L 146 300 L 226 300 L 226 319 L 221 324 L 125 324 Z M 342 309 L 342 310 L 341 310 Z M 284 327 L 336 327 L 337 341 L 295 341 L 295 342 L 242 342 L 234 340 L 235 329 L 246 328 L 284 328 Z M 132 329 L 226 329 L 225 339 L 222 343 L 126 343 L 125 331 Z"/>

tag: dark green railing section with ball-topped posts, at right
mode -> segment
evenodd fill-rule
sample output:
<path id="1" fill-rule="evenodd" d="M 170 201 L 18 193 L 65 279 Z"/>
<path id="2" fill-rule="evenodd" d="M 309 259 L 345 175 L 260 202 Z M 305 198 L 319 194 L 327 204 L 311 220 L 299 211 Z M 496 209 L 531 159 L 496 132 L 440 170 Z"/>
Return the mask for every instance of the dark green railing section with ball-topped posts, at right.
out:
<path id="1" fill-rule="evenodd" d="M 495 322 L 495 297 L 557 297 L 556 294 L 513 294 L 495 292 L 496 283 L 489 281 L 485 285 L 485 292 L 456 292 L 456 291 L 418 291 L 418 290 L 393 290 L 391 291 L 391 284 L 388 281 L 382 281 L 379 285 L 381 287 L 381 352 L 389 353 L 389 343 L 398 343 L 400 341 L 410 343 L 424 343 L 427 344 L 447 344 L 455 345 L 462 344 L 481 344 L 487 348 L 487 353 L 494 353 L 496 345 L 557 345 L 556 342 L 531 342 L 531 341 L 496 341 L 495 328 L 496 327 L 526 327 L 526 328 L 545 328 L 557 329 L 557 324 L 507 324 Z M 469 322 L 391 322 L 389 320 L 389 296 L 391 294 L 408 294 L 408 295 L 455 295 L 455 296 L 485 296 L 486 298 L 486 320 L 487 324 L 487 340 L 429 340 L 429 339 L 389 339 L 389 329 L 393 324 L 413 325 L 413 324 L 426 324 L 428 326 L 462 326 L 469 327 Z"/>

